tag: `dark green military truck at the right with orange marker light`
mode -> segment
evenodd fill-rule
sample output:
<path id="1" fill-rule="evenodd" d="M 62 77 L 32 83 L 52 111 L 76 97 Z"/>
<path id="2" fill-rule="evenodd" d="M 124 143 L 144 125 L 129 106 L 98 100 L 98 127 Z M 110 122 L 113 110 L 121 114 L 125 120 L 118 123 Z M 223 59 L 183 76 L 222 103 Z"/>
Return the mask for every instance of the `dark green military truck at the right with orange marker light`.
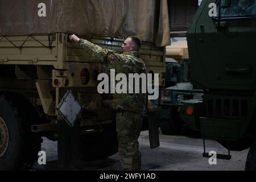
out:
<path id="1" fill-rule="evenodd" d="M 255 0 L 201 3 L 187 40 L 191 82 L 204 96 L 180 106 L 181 118 L 204 139 L 216 139 L 228 150 L 250 147 L 246 170 L 256 169 L 255 16 Z"/>

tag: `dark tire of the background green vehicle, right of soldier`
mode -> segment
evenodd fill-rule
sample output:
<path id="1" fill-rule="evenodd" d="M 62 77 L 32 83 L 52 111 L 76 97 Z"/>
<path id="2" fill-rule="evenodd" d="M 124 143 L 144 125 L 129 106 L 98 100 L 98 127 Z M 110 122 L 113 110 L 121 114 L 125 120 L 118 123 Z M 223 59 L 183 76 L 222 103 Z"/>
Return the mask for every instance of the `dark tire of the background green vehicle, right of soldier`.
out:
<path id="1" fill-rule="evenodd" d="M 160 118 L 160 129 L 164 135 L 179 134 L 181 129 L 179 112 L 174 108 L 163 109 Z"/>

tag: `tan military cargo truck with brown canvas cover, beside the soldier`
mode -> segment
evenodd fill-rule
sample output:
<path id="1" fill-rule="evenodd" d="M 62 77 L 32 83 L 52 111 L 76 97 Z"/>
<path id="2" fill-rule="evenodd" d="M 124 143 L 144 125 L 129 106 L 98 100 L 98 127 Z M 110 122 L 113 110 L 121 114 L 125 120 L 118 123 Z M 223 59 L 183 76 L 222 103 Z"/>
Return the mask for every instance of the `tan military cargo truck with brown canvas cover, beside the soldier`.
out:
<path id="1" fill-rule="evenodd" d="M 160 87 L 170 44 L 167 7 L 166 0 L 1 0 L 0 170 L 33 166 L 43 136 L 58 141 L 62 168 L 115 154 L 113 96 L 97 92 L 103 68 L 68 35 L 115 51 L 126 36 L 139 36 L 147 73 L 160 74 Z"/>

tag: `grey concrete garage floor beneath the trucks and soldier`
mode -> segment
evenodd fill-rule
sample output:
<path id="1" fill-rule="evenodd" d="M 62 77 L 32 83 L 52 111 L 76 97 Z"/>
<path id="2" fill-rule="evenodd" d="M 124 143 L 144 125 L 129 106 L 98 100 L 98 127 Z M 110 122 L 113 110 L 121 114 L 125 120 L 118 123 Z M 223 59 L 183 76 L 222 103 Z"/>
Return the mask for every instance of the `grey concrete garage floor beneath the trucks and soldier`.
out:
<path id="1" fill-rule="evenodd" d="M 230 151 L 231 160 L 217 159 L 217 164 L 210 165 L 208 158 L 203 158 L 203 140 L 199 137 L 160 135 L 160 147 L 151 149 L 148 131 L 142 131 L 139 148 L 142 154 L 142 170 L 145 171 L 243 171 L 247 150 Z M 214 140 L 205 140 L 207 151 L 228 154 L 228 150 Z M 32 170 L 59 170 L 57 167 L 57 142 L 43 138 L 42 150 L 46 151 L 47 164 L 36 163 Z M 85 163 L 82 170 L 122 170 L 115 154 L 104 160 Z"/>

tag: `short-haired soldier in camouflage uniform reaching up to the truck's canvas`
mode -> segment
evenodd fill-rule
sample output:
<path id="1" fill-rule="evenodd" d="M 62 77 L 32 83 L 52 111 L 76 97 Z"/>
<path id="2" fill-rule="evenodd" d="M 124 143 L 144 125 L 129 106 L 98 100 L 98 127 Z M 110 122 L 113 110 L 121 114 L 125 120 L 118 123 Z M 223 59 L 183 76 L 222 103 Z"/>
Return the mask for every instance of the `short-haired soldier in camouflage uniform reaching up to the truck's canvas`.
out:
<path id="1" fill-rule="evenodd" d="M 76 35 L 69 36 L 70 40 L 79 42 L 80 46 L 88 51 L 94 59 L 100 61 L 105 68 L 115 69 L 115 74 L 146 73 L 146 67 L 139 56 L 141 40 L 130 36 L 123 42 L 123 53 L 79 39 Z M 142 126 L 142 113 L 145 107 L 146 94 L 115 93 L 113 108 L 117 110 L 118 155 L 122 167 L 126 170 L 141 169 L 141 153 L 139 152 L 138 137 Z"/>

